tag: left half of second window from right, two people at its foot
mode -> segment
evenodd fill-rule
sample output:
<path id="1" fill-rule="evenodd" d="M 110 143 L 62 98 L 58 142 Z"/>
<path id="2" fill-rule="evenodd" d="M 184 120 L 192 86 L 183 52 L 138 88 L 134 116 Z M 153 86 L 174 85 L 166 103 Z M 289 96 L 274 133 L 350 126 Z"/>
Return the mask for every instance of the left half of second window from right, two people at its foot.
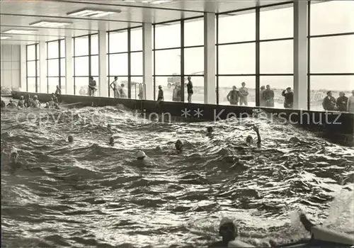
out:
<path id="1" fill-rule="evenodd" d="M 217 101 L 256 106 L 256 10 L 220 14 L 217 24 Z"/>

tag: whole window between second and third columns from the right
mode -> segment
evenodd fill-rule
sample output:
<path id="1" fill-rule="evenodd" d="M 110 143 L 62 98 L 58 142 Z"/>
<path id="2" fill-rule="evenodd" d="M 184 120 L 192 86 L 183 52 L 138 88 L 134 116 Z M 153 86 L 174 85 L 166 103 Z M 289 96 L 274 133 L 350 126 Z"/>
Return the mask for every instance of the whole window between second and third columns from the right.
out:
<path id="1" fill-rule="evenodd" d="M 153 40 L 155 98 L 161 85 L 164 101 L 188 101 L 186 86 L 190 77 L 193 84 L 191 101 L 204 103 L 203 18 L 156 24 Z"/>

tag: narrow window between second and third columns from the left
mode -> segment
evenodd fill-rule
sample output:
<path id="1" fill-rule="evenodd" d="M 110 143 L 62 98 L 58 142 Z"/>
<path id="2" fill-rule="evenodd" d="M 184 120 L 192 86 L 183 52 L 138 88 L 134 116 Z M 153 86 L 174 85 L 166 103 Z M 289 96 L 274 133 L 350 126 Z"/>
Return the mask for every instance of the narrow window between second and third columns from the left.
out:
<path id="1" fill-rule="evenodd" d="M 54 93 L 57 86 L 65 94 L 65 42 L 47 42 L 47 93 Z"/>

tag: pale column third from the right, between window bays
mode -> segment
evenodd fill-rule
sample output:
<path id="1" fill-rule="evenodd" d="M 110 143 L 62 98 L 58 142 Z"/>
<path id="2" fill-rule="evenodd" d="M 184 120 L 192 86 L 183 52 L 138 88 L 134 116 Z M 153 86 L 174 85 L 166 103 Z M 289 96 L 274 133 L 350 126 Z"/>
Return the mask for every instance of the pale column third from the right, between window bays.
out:
<path id="1" fill-rule="evenodd" d="M 143 98 L 154 100 L 154 82 L 152 80 L 152 23 L 142 24 L 142 67 L 145 91 Z"/>

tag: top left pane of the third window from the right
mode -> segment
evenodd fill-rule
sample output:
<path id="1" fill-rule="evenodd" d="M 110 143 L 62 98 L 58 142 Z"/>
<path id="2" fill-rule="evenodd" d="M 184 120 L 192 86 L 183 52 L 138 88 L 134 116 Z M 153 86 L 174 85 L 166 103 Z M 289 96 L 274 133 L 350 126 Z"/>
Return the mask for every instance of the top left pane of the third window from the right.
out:
<path id="1" fill-rule="evenodd" d="M 181 47 L 181 22 L 155 26 L 155 48 Z"/>

